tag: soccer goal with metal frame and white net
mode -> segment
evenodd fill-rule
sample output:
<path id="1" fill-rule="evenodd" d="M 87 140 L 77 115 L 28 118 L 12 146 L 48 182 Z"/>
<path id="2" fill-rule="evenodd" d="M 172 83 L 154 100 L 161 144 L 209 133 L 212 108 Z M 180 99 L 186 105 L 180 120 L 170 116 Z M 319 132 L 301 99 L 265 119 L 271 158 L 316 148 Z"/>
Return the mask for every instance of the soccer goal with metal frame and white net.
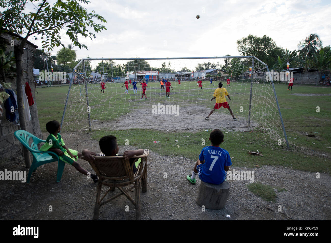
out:
<path id="1" fill-rule="evenodd" d="M 177 147 L 201 143 L 218 128 L 254 132 L 252 143 L 288 148 L 268 72 L 254 56 L 82 59 L 72 72 L 61 127 L 115 135 L 122 144 L 131 139 L 148 146 L 162 138 Z M 219 83 L 231 100 L 222 89 L 225 97 L 216 102 L 223 105 L 207 120 Z"/>

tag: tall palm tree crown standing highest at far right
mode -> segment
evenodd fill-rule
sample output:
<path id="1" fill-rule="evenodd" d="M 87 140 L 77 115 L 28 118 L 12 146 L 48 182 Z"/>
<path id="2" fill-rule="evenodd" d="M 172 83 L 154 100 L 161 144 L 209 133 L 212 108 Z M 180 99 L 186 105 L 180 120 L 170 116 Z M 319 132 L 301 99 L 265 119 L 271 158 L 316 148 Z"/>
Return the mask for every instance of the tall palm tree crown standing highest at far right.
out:
<path id="1" fill-rule="evenodd" d="M 312 59 L 314 54 L 322 46 L 322 41 L 317 34 L 310 34 L 305 40 L 300 41 L 298 49 L 300 54 L 303 55 L 303 60 Z"/>

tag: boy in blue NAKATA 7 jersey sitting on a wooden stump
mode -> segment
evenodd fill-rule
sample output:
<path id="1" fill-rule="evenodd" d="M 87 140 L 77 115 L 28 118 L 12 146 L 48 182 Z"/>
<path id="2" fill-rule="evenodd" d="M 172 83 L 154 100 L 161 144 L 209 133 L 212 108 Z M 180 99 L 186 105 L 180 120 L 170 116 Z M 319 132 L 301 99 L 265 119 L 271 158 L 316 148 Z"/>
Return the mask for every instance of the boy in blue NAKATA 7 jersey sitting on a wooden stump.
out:
<path id="1" fill-rule="evenodd" d="M 224 182 L 226 171 L 232 163 L 229 152 L 219 147 L 224 142 L 223 138 L 224 135 L 219 129 L 214 129 L 210 133 L 209 140 L 212 145 L 202 149 L 192 175 L 186 177 L 192 184 L 195 184 L 197 175 L 203 182 L 216 185 Z"/>

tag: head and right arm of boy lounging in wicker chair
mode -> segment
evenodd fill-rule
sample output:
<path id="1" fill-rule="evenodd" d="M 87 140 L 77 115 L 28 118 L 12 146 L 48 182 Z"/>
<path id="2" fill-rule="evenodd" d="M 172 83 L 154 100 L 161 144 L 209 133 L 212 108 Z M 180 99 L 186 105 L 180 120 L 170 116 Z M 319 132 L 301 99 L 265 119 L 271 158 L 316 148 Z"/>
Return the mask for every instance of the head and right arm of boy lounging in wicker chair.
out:
<path id="1" fill-rule="evenodd" d="M 117 138 L 115 136 L 109 135 L 109 136 L 104 136 L 100 139 L 99 141 L 99 146 L 101 149 L 101 152 L 105 156 L 124 156 L 125 159 L 129 158 L 130 159 L 130 165 L 133 165 L 133 173 L 136 173 L 137 171 L 137 166 L 141 162 L 141 158 L 135 159 L 132 158 L 134 155 L 142 155 L 144 154 L 144 149 L 138 149 L 138 150 L 127 150 L 124 151 L 123 154 L 117 154 L 119 147 L 117 143 Z"/>

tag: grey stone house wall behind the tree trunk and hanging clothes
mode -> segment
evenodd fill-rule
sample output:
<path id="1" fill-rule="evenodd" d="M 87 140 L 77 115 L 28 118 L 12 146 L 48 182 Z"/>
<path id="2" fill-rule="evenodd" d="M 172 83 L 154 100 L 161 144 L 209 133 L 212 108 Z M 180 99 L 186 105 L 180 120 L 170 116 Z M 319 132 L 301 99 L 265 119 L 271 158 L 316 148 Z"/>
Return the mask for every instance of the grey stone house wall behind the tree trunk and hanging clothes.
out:
<path id="1" fill-rule="evenodd" d="M 2 34 L 2 38 L 7 38 L 12 40 L 12 36 L 9 34 Z M 16 40 L 15 40 L 16 41 Z M 29 45 L 29 46 L 28 46 Z M 38 120 L 38 110 L 35 100 L 35 86 L 33 80 L 33 61 L 32 61 L 32 52 L 35 50 L 36 46 L 27 44 L 28 49 L 24 49 L 23 59 L 23 84 L 25 87 L 25 82 L 28 82 L 31 93 L 33 97 L 34 104 L 29 106 L 31 120 L 27 122 L 27 131 L 38 138 L 42 138 L 42 133 L 40 130 L 39 120 Z M 14 51 L 13 47 L 8 45 L 7 52 Z M 3 80 L 1 80 L 3 81 Z M 16 79 L 7 80 L 6 83 L 12 83 L 11 88 L 16 91 Z M 14 132 L 19 129 L 17 125 L 12 124 L 6 119 L 6 110 L 4 104 L 1 104 L 4 112 L 3 116 L 0 117 L 0 167 L 6 167 L 6 164 L 10 163 L 12 160 L 19 159 L 21 163 L 24 163 L 23 149 L 21 143 L 15 138 Z M 32 160 L 31 160 L 32 161 Z"/>

